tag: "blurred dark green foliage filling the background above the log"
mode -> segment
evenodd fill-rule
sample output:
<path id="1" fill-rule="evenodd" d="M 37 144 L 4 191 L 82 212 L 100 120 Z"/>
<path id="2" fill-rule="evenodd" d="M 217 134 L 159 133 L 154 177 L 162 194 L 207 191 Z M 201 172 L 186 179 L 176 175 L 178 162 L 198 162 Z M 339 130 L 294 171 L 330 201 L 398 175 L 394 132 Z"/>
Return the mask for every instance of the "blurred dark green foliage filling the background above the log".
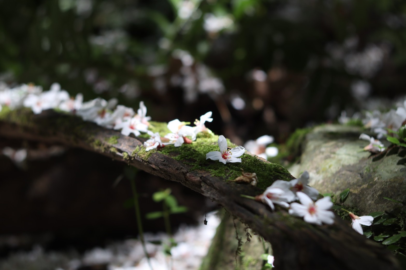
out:
<path id="1" fill-rule="evenodd" d="M 400 0 L 0 0 L 0 11 L 0 79 L 45 88 L 57 81 L 85 100 L 154 99 L 149 70 L 158 64 L 171 90 L 177 49 L 222 79 L 227 102 L 233 93 L 247 104 L 259 97 L 261 108 L 275 106 L 277 117 L 291 120 L 300 113 L 278 104 L 294 107 L 285 99 L 296 97 L 307 110 L 296 125 L 355 106 L 356 80 L 372 94 L 403 94 Z M 255 69 L 268 75 L 271 96 L 247 77 Z"/>

